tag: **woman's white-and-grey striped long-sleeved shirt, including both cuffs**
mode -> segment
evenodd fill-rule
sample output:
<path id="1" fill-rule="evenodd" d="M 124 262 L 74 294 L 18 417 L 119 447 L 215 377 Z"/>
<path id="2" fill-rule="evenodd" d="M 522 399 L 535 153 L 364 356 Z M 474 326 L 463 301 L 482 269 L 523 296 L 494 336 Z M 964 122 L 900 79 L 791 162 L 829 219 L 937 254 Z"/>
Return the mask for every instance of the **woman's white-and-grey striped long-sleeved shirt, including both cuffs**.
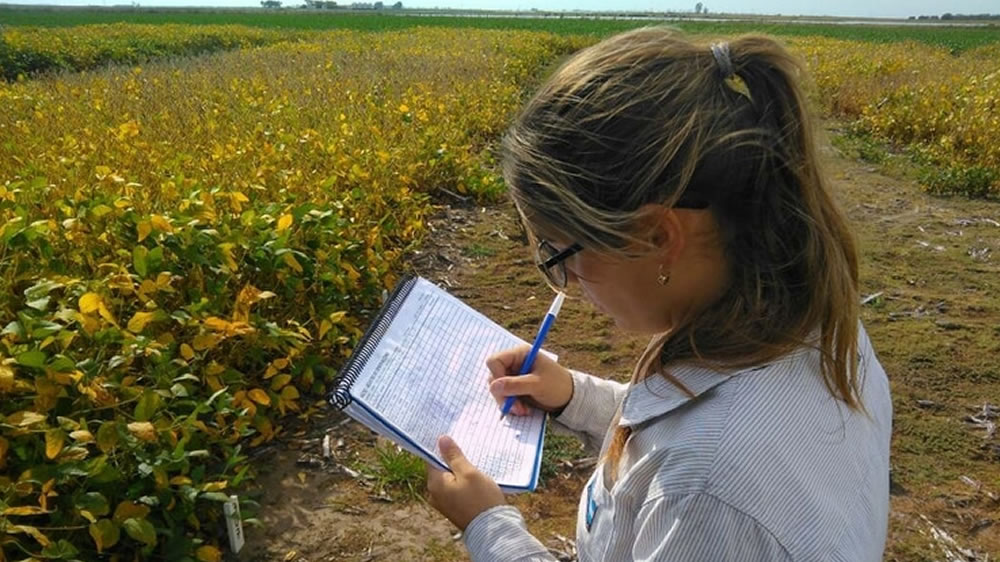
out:
<path id="1" fill-rule="evenodd" d="M 601 463 L 581 494 L 580 562 L 881 560 L 892 403 L 863 328 L 858 352 L 867 415 L 831 396 L 808 348 L 738 373 L 672 367 L 693 399 L 659 376 L 574 371 L 555 427 L 602 453 L 619 412 L 633 430 L 613 486 Z M 555 560 L 512 506 L 481 513 L 464 540 L 476 562 Z"/>

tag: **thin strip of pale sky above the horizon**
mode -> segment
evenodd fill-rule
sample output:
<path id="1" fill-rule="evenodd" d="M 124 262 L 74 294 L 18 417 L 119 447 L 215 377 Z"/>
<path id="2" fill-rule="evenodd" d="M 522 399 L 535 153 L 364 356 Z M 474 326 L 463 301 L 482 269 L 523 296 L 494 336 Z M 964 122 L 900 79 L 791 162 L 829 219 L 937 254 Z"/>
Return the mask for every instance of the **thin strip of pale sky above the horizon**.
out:
<path id="1" fill-rule="evenodd" d="M 17 4 L 114 5 L 130 0 L 0 0 Z M 256 0 L 138 0 L 142 6 L 259 6 Z M 499 10 L 694 10 L 697 0 L 402 0 L 411 8 L 465 8 Z M 847 17 L 905 18 L 922 14 L 981 14 L 1000 13 L 1000 0 L 834 0 L 803 2 L 802 0 L 701 0 L 712 12 L 830 15 Z M 286 5 L 302 4 L 301 0 L 284 0 Z M 341 3 L 350 3 L 342 0 Z M 387 2 L 391 4 L 392 2 Z"/>

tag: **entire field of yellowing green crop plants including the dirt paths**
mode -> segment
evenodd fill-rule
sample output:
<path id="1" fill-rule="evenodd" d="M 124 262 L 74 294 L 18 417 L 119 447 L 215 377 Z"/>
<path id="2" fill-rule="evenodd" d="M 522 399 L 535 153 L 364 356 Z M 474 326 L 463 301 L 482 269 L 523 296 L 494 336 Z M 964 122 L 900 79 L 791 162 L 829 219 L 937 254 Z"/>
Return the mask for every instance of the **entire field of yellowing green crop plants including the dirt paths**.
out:
<path id="1" fill-rule="evenodd" d="M 495 142 L 553 64 L 644 22 L 0 23 L 0 560 L 219 560 L 229 493 L 254 559 L 463 559 L 419 464 L 323 391 L 406 271 L 530 332 L 524 295 L 544 293 Z M 886 560 L 945 557 L 932 529 L 1000 554 L 1000 30 L 679 26 L 780 34 L 814 76 L 893 382 Z M 554 348 L 621 376 L 639 342 L 577 304 L 593 338 Z M 517 499 L 544 540 L 572 536 L 579 457 L 554 441 L 544 489 Z"/>

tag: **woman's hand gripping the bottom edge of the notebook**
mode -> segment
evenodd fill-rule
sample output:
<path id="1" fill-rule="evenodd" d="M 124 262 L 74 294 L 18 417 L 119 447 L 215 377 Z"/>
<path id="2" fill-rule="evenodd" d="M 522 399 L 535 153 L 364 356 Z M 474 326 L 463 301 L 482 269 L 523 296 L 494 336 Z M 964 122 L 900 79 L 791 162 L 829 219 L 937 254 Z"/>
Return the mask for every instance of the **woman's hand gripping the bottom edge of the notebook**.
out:
<path id="1" fill-rule="evenodd" d="M 504 505 L 507 500 L 500 486 L 465 458 L 451 437 L 438 439 L 441 457 L 451 472 L 427 465 L 427 492 L 431 507 L 441 512 L 461 530 L 487 509 Z"/>

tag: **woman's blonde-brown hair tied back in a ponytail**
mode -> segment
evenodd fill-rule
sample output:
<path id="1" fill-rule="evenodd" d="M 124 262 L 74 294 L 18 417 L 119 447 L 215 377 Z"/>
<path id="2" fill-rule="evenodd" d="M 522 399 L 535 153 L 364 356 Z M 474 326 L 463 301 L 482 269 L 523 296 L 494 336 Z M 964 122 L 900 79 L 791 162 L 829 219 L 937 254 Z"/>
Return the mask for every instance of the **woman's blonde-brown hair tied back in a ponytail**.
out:
<path id="1" fill-rule="evenodd" d="M 709 43 L 664 27 L 580 51 L 504 136 L 504 178 L 529 232 L 609 254 L 649 247 L 637 230 L 646 204 L 695 202 L 714 214 L 730 284 L 653 338 L 633 383 L 658 372 L 683 389 L 671 362 L 740 369 L 814 346 L 830 393 L 863 410 L 857 251 L 821 171 L 802 67 L 760 35 L 729 41 L 726 55 L 731 69 Z M 629 435 L 619 427 L 608 448 L 612 479 Z"/>

